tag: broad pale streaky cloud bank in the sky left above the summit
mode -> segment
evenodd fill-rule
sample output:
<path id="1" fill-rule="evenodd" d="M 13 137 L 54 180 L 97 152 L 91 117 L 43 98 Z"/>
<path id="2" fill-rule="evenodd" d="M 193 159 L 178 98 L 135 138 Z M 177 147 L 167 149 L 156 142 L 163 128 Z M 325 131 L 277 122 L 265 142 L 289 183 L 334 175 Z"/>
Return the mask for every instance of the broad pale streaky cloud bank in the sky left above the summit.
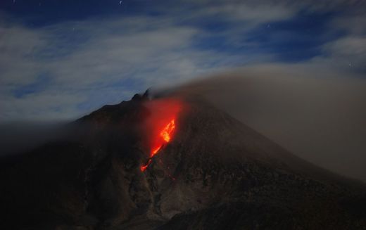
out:
<path id="1" fill-rule="evenodd" d="M 0 120 L 76 118 L 153 85 L 220 68 L 222 61 L 214 51 L 191 47 L 198 29 L 163 18 L 111 18 L 34 30 L 15 25 L 1 31 Z M 42 90 L 22 94 L 20 89 L 21 95 L 14 95 L 19 87 L 37 84 L 39 75 L 49 78 Z M 90 106 L 78 108 L 82 103 Z"/>

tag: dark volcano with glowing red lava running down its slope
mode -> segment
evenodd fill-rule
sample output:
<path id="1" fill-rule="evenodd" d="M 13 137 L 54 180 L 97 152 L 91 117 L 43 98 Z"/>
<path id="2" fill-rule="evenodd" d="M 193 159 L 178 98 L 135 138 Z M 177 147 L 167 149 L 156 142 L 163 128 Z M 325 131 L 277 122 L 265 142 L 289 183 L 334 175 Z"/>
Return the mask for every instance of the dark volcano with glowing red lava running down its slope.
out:
<path id="1" fill-rule="evenodd" d="M 366 229 L 366 186 L 203 98 L 103 106 L 1 159 L 1 229 Z"/>

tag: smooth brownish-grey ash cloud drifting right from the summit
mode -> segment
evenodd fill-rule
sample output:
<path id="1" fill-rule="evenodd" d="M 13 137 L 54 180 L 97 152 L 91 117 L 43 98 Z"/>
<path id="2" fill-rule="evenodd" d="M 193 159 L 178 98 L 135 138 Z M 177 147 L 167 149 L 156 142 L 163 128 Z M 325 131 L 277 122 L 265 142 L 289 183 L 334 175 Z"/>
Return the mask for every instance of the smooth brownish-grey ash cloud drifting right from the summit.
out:
<path id="1" fill-rule="evenodd" d="M 366 79 L 314 65 L 257 65 L 175 89 L 203 96 L 299 157 L 366 181 Z"/>

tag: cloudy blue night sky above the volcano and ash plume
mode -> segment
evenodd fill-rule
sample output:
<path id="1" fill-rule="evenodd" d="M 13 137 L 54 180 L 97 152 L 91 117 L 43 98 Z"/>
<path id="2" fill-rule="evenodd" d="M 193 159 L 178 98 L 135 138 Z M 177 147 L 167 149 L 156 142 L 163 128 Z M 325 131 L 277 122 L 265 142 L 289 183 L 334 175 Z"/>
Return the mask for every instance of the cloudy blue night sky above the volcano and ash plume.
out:
<path id="1" fill-rule="evenodd" d="M 0 121 L 75 119 L 258 64 L 365 76 L 365 1 L 0 3 Z"/>

